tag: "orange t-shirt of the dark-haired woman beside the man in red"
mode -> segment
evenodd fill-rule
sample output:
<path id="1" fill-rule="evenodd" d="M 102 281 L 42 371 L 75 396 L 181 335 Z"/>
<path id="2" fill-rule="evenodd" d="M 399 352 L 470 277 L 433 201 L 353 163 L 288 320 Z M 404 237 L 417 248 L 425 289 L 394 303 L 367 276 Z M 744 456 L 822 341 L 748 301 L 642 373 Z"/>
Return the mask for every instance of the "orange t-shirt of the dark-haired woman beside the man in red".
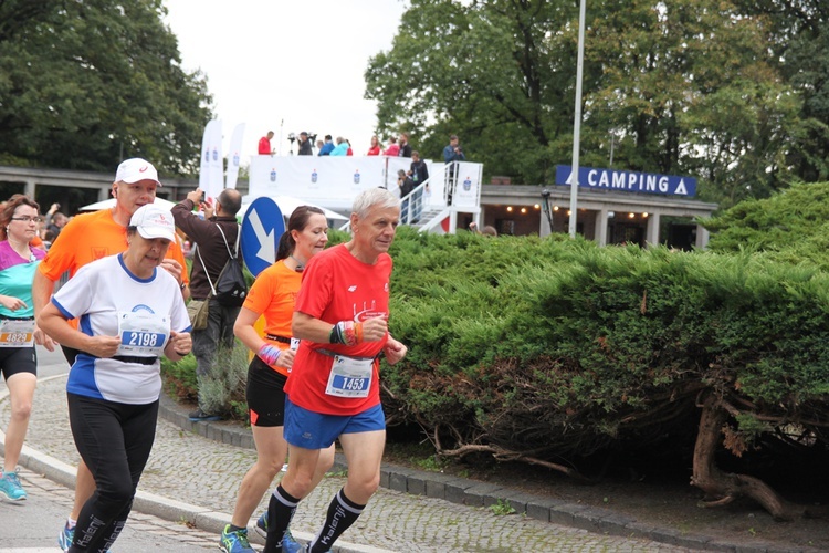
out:
<path id="1" fill-rule="evenodd" d="M 263 315 L 265 321 L 265 336 L 263 337 L 280 349 L 287 349 L 291 344 L 267 340 L 266 335 L 291 337 L 294 303 L 296 302 L 296 295 L 300 293 L 302 273 L 288 269 L 285 261 L 280 260 L 259 273 L 242 305 Z M 287 369 L 284 367 L 271 368 L 287 376 Z"/>

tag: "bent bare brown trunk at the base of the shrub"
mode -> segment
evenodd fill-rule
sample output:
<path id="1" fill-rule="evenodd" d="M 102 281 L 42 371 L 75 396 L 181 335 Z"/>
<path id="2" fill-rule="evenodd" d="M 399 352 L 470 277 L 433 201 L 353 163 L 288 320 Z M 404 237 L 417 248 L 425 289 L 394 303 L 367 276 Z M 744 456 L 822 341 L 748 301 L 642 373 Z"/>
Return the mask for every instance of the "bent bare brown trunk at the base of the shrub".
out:
<path id="1" fill-rule="evenodd" d="M 714 453 L 722 438 L 722 428 L 727 413 L 713 394 L 705 398 L 700 417 L 700 431 L 694 447 L 694 470 L 691 484 L 700 488 L 709 498 L 703 507 L 717 507 L 731 503 L 739 497 L 757 501 L 776 520 L 793 520 L 802 514 L 789 505 L 762 480 L 745 476 L 722 472 L 714 462 Z"/>

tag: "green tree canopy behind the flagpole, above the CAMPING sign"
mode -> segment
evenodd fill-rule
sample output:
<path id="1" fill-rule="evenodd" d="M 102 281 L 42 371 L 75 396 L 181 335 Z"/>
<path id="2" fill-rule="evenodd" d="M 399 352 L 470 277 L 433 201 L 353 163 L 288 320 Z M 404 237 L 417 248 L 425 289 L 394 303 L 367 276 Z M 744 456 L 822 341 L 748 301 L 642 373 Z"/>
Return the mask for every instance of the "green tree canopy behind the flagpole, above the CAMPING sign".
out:
<path id="1" fill-rule="evenodd" d="M 789 4 L 589 2 L 581 164 L 612 148 L 615 167 L 694 175 L 725 206 L 823 175 L 827 9 Z M 366 70 L 379 131 L 433 158 L 458 134 L 489 175 L 548 184 L 571 157 L 577 32 L 578 2 L 412 0 Z"/>

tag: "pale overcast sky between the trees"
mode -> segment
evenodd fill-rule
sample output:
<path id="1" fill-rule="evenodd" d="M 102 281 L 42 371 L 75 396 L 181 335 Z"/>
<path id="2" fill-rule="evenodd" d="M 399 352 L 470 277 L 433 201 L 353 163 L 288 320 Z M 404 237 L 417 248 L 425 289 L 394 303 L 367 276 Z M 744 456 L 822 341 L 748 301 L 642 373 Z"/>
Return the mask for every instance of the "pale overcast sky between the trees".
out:
<path id="1" fill-rule="evenodd" d="M 242 164 L 259 139 L 287 155 L 288 133 L 344 136 L 365 155 L 376 106 L 368 59 L 391 48 L 401 0 L 165 0 L 186 71 L 201 70 L 222 121 L 224 155 L 245 124 Z M 282 139 L 280 136 L 282 135 Z M 294 143 L 294 153 L 296 144 Z"/>

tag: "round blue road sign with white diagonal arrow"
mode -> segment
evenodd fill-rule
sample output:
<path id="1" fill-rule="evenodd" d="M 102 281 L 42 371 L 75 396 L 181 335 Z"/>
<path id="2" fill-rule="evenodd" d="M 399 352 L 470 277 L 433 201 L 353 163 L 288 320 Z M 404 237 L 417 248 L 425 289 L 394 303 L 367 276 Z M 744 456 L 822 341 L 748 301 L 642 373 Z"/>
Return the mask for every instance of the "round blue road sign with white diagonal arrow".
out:
<path id="1" fill-rule="evenodd" d="M 254 275 L 276 261 L 276 244 L 285 232 L 282 210 L 271 198 L 256 198 L 242 219 L 242 258 Z"/>

